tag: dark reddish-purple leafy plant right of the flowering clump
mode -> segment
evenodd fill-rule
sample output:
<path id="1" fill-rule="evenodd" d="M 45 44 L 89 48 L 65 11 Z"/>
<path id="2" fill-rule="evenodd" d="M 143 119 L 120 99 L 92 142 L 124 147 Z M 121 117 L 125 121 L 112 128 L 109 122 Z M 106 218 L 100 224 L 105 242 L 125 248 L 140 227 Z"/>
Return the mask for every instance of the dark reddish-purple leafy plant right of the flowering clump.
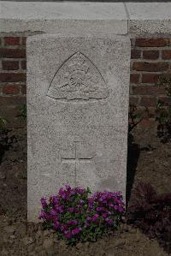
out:
<path id="1" fill-rule="evenodd" d="M 139 183 L 134 190 L 134 204 L 127 209 L 127 223 L 156 238 L 171 252 L 171 193 L 156 193 L 150 183 Z"/>

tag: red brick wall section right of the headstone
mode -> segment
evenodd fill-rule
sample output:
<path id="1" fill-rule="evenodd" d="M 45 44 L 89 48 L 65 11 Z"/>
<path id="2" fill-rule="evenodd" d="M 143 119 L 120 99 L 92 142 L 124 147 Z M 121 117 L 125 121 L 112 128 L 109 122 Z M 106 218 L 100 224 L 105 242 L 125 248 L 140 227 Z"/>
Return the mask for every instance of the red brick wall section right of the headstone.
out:
<path id="1" fill-rule="evenodd" d="M 168 104 L 165 90 L 156 85 L 159 74 L 171 72 L 170 39 L 132 39 L 130 103 L 154 113 L 158 99 Z"/>

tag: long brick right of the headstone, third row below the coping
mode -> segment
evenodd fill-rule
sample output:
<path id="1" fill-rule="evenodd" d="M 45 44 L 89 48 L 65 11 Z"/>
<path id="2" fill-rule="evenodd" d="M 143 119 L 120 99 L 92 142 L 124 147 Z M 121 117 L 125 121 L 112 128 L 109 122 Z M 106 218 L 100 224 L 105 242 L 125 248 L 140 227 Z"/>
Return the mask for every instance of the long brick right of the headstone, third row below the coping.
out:
<path id="1" fill-rule="evenodd" d="M 147 72 L 161 72 L 161 71 L 168 70 L 168 63 L 134 62 L 133 70 L 147 71 Z"/>

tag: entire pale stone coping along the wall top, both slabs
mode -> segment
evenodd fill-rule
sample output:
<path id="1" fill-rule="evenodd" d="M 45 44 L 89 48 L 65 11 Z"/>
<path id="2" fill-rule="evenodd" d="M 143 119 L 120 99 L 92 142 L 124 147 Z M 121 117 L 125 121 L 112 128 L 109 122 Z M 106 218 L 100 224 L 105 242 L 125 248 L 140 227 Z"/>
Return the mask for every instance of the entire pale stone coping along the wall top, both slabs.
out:
<path id="1" fill-rule="evenodd" d="M 171 3 L 0 2 L 0 33 L 171 33 Z M 128 26 L 129 24 L 129 26 Z M 13 44 L 13 43 L 11 43 Z"/>

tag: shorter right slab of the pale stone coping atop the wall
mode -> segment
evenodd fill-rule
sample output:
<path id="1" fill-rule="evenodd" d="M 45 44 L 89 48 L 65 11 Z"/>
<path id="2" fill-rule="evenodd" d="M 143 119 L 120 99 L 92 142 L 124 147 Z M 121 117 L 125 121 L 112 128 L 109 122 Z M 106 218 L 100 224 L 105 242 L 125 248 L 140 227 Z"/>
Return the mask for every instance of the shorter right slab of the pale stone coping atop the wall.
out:
<path id="1" fill-rule="evenodd" d="M 131 36 L 171 33 L 171 3 L 126 3 Z"/>

